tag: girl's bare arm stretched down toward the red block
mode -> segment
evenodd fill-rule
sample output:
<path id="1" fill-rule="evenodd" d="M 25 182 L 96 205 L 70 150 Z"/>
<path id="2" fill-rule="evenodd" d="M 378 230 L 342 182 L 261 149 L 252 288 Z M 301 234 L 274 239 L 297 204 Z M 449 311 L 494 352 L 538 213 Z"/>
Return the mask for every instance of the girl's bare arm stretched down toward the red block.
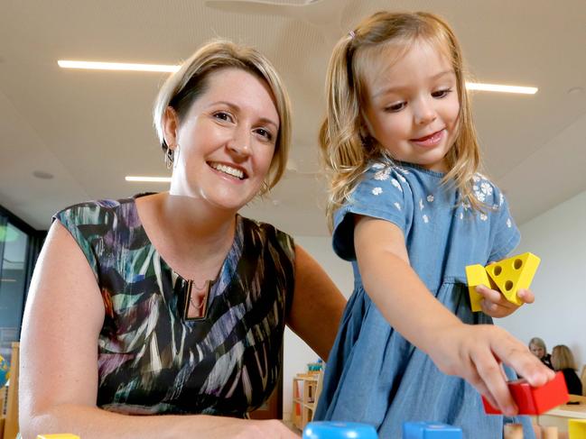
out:
<path id="1" fill-rule="evenodd" d="M 514 415 L 516 407 L 499 360 L 533 386 L 553 378 L 552 370 L 503 329 L 464 325 L 442 306 L 411 268 L 395 224 L 357 215 L 354 246 L 364 288 L 386 320 L 440 370 L 468 380 L 503 413 Z"/>

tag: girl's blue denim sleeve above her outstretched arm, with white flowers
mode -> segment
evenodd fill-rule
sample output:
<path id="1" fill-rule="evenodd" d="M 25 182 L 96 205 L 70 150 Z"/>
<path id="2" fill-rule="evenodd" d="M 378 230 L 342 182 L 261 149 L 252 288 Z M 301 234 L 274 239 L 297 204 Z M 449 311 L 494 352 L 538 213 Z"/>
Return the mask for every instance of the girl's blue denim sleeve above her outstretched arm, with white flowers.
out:
<path id="1" fill-rule="evenodd" d="M 354 215 L 378 218 L 399 227 L 406 235 L 413 218 L 413 193 L 399 169 L 372 165 L 350 195 L 349 201 L 334 214 L 334 252 L 354 261 Z"/>

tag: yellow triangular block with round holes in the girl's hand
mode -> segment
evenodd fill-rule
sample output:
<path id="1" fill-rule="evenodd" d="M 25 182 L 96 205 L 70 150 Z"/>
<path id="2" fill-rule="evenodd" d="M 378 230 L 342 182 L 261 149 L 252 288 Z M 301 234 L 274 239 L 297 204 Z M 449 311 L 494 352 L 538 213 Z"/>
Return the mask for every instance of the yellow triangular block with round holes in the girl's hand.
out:
<path id="1" fill-rule="evenodd" d="M 516 292 L 521 288 L 529 288 L 540 261 L 535 254 L 526 252 L 487 265 L 486 269 L 490 279 L 494 280 L 509 302 L 523 305 Z"/>

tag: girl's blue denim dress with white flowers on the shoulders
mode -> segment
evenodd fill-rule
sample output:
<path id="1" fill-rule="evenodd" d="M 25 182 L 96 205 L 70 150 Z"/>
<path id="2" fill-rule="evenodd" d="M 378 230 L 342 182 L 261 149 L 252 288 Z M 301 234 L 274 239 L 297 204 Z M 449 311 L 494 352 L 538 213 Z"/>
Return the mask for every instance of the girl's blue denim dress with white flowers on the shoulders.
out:
<path id="1" fill-rule="evenodd" d="M 472 313 L 465 267 L 507 256 L 520 236 L 498 187 L 477 174 L 474 196 L 484 212 L 460 202 L 459 191 L 442 185 L 442 173 L 407 163 L 373 163 L 352 198 L 334 216 L 333 247 L 352 262 L 354 292 L 330 352 L 314 419 L 375 425 L 381 438 L 401 437 L 405 421 L 437 421 L 462 428 L 464 437 L 500 438 L 504 419 L 485 415 L 479 392 L 443 374 L 433 361 L 389 325 L 362 285 L 353 243 L 353 214 L 396 224 L 405 234 L 411 266 L 444 306 L 468 324 L 492 324 Z M 414 313 L 417 309 L 413 310 Z M 433 318 L 433 316 L 430 316 Z M 512 370 L 507 370 L 515 378 Z"/>

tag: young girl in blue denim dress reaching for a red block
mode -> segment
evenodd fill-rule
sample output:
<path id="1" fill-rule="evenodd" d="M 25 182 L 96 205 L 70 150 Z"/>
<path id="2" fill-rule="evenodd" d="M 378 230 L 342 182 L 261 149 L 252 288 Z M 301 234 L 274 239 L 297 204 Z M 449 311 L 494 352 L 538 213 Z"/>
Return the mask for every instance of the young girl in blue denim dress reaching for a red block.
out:
<path id="1" fill-rule="evenodd" d="M 418 420 L 501 437 L 503 416 L 484 415 L 479 395 L 516 414 L 500 361 L 532 385 L 553 372 L 490 325 L 515 310 L 497 291 L 480 287 L 484 313 L 470 310 L 464 268 L 502 259 L 519 233 L 477 173 L 458 41 L 433 14 L 374 14 L 334 49 L 327 94 L 328 215 L 356 280 L 316 419 L 367 422 L 382 438 Z"/>

